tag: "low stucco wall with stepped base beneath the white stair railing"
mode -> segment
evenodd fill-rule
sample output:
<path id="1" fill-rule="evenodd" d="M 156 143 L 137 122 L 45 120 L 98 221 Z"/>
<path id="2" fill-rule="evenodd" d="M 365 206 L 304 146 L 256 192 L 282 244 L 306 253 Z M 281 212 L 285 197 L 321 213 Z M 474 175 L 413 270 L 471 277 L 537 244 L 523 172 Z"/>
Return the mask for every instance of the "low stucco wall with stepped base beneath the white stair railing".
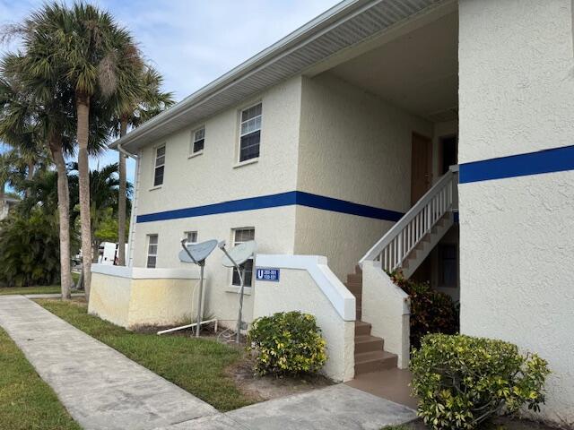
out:
<path id="1" fill-rule="evenodd" d="M 410 299 L 382 270 L 380 262 L 362 266 L 362 318 L 371 324 L 371 334 L 385 340 L 385 350 L 396 354 L 396 366 L 409 366 Z"/>

